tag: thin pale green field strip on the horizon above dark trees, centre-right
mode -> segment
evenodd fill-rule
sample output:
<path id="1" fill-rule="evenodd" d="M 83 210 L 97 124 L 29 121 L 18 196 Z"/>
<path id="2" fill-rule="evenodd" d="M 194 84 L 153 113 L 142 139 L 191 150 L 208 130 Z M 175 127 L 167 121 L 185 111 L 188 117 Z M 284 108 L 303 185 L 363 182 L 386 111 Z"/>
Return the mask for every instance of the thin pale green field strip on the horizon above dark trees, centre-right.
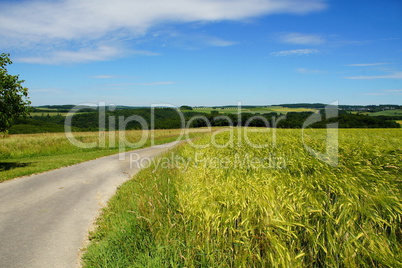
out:
<path id="1" fill-rule="evenodd" d="M 237 108 L 194 108 L 194 111 L 196 112 L 202 112 L 202 113 L 211 113 L 212 111 L 217 111 L 220 114 L 237 114 L 239 110 Z M 281 106 L 269 106 L 269 107 L 257 107 L 257 108 L 242 108 L 240 109 L 241 113 L 259 113 L 259 114 L 264 114 L 264 113 L 281 113 L 281 114 L 286 114 L 289 112 L 315 112 L 316 110 L 314 109 L 308 109 L 308 108 L 286 108 L 286 107 L 281 107 Z"/>

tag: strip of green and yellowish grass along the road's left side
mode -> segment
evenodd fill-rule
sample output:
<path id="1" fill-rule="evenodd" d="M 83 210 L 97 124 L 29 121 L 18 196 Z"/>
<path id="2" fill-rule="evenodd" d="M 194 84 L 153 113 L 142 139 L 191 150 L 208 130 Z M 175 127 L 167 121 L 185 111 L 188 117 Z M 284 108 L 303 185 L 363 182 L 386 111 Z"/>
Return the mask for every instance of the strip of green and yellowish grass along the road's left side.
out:
<path id="1" fill-rule="evenodd" d="M 196 137 L 207 132 L 207 129 L 189 129 L 189 136 Z M 126 131 L 127 143 L 119 143 L 120 132 L 74 132 L 74 138 L 83 143 L 97 143 L 94 148 L 80 148 L 73 145 L 65 133 L 21 134 L 0 137 L 0 182 L 20 176 L 40 173 L 87 160 L 107 156 L 119 152 L 119 145 L 124 150 L 134 150 L 151 146 L 151 139 L 140 147 L 129 143 L 141 140 L 144 133 L 140 130 Z M 155 145 L 175 141 L 181 134 L 180 129 L 155 130 Z M 184 138 L 184 137 L 183 137 Z M 100 141 L 104 140 L 105 144 Z M 135 144 L 134 144 L 135 145 Z"/>

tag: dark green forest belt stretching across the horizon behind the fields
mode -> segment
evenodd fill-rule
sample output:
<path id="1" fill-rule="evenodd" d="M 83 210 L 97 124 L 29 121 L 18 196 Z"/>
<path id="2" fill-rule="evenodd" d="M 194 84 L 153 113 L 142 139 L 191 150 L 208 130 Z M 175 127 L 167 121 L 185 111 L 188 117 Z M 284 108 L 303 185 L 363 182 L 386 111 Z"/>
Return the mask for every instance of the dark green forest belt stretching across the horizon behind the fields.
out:
<path id="1" fill-rule="evenodd" d="M 321 118 L 325 118 L 324 104 L 283 104 L 283 107 L 289 108 L 315 108 L 320 109 Z M 66 113 L 69 112 L 73 105 L 52 105 L 42 106 L 33 109 L 33 115 L 18 119 L 14 126 L 10 129 L 10 134 L 24 133 L 47 133 L 47 132 L 64 132 L 64 124 Z M 188 106 L 185 106 L 188 107 Z M 249 108 L 255 106 L 243 106 Z M 352 107 L 352 108 L 351 108 Z M 353 114 L 351 111 L 355 109 L 368 109 L 368 106 L 344 106 L 340 107 L 338 117 L 330 120 L 322 120 L 309 125 L 309 128 L 325 128 L 327 124 L 338 123 L 339 128 L 400 128 L 400 124 L 395 120 L 402 120 L 402 116 L 368 116 L 365 114 Z M 383 107 L 373 106 L 372 108 L 384 109 Z M 389 106 L 387 106 L 387 109 Z M 400 106 L 393 107 L 398 109 Z M 375 109 L 375 110 L 378 110 Z M 373 109 L 374 110 L 374 109 Z M 99 117 L 101 116 L 97 107 L 80 107 L 79 111 L 72 118 L 73 131 L 98 131 L 100 129 Z M 277 128 L 302 128 L 303 123 L 309 118 L 313 112 L 288 112 L 281 115 L 277 112 L 269 113 L 241 113 L 225 114 L 224 112 L 214 111 L 209 114 L 197 112 L 197 110 L 182 110 L 185 125 L 190 128 L 206 127 L 208 123 L 211 126 L 229 126 L 232 122 L 234 126 L 251 126 Z M 119 128 L 119 118 L 128 120 L 131 116 L 139 116 L 146 121 L 148 128 L 153 123 L 154 129 L 173 129 L 181 128 L 182 120 L 177 109 L 174 108 L 156 108 L 154 109 L 154 120 L 151 122 L 151 108 L 133 108 L 125 106 L 117 106 L 114 111 L 106 111 L 104 115 L 104 130 L 116 130 Z M 257 117 L 255 117 L 257 116 Z M 254 117 L 254 119 L 252 119 Z M 230 119 L 230 121 L 228 120 Z M 140 123 L 130 121 L 125 126 L 126 130 L 142 129 Z"/>

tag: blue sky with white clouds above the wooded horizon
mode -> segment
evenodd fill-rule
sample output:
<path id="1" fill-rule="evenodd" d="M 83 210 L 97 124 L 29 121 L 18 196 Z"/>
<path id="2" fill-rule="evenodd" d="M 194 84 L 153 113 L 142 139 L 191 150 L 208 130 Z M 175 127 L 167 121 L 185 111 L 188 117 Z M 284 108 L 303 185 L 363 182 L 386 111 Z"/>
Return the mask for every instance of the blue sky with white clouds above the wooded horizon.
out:
<path id="1" fill-rule="evenodd" d="M 400 0 L 0 0 L 33 106 L 402 105 Z"/>

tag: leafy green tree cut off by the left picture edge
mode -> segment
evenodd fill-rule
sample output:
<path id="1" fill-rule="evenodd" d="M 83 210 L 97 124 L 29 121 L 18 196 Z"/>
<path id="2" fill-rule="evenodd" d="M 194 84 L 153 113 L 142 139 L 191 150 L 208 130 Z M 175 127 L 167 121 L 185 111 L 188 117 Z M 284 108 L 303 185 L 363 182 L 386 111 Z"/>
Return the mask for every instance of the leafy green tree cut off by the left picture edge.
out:
<path id="1" fill-rule="evenodd" d="M 7 132 L 19 116 L 27 116 L 31 104 L 28 89 L 21 85 L 25 81 L 7 72 L 7 65 L 12 64 L 9 57 L 0 55 L 0 132 Z"/>

